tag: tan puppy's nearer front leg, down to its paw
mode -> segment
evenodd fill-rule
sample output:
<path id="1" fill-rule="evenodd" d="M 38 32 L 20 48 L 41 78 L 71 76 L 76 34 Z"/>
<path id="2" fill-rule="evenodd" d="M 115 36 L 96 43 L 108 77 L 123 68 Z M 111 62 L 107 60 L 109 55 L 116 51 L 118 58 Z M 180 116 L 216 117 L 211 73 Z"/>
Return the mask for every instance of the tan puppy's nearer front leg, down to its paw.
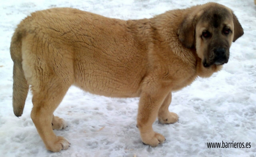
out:
<path id="1" fill-rule="evenodd" d="M 165 137 L 154 132 L 152 124 L 157 118 L 158 110 L 169 93 L 169 89 L 161 85 L 144 89 L 146 90 L 143 90 L 140 96 L 137 127 L 140 130 L 142 142 L 156 147 L 165 141 Z"/>

